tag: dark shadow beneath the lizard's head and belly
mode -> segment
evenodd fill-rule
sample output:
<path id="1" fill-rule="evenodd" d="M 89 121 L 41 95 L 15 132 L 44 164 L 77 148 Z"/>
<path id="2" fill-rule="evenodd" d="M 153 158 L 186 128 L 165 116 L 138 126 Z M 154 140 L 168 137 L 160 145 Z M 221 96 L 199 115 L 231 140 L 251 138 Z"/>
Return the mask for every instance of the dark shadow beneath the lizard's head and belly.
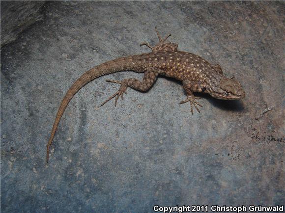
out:
<path id="1" fill-rule="evenodd" d="M 182 82 L 180 80 L 171 79 L 165 76 L 163 76 L 162 78 L 178 83 L 182 86 Z M 183 91 L 184 91 L 184 94 L 186 95 L 186 92 L 184 89 Z M 219 99 L 215 99 L 211 97 L 209 94 L 206 94 L 206 93 L 194 93 L 194 94 L 196 97 L 207 99 L 213 106 L 219 107 L 223 110 L 243 111 L 245 109 L 244 104 L 240 100 L 219 100 Z"/>

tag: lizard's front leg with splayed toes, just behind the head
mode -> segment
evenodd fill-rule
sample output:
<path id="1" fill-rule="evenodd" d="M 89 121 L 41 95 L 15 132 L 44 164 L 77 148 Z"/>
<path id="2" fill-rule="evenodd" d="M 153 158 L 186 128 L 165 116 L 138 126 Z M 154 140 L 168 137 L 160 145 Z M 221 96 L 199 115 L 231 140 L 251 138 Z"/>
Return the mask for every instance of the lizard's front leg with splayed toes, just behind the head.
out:
<path id="1" fill-rule="evenodd" d="M 193 92 L 203 92 L 203 85 L 191 81 L 191 80 L 183 80 L 183 88 L 185 89 L 186 93 L 187 93 L 187 99 L 185 101 L 181 101 L 179 104 L 184 104 L 187 102 L 190 102 L 190 106 L 191 106 L 191 113 L 193 114 L 193 105 L 195 106 L 195 108 L 197 109 L 197 111 L 200 113 L 199 108 L 196 106 L 201 106 L 197 101 L 195 101 L 195 99 L 200 99 L 200 98 L 196 98 L 193 94 Z"/>

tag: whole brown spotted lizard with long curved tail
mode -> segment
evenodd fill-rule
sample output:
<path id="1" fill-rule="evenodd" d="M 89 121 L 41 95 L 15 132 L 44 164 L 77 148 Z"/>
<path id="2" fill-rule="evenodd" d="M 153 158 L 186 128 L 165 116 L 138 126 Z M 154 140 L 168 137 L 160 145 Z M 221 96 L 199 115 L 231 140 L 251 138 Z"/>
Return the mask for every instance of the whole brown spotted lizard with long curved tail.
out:
<path id="1" fill-rule="evenodd" d="M 57 131 L 57 126 L 72 97 L 85 84 L 104 75 L 132 71 L 143 73 L 143 79 L 142 81 L 134 78 L 124 80 L 107 79 L 106 81 L 108 82 L 120 84 L 120 87 L 101 106 L 113 98 L 115 98 L 114 105 L 116 106 L 119 97 L 124 100 L 123 95 L 127 94 L 126 90 L 128 87 L 138 91 L 147 91 L 155 83 L 158 76 L 166 76 L 182 82 L 187 98 L 179 104 L 190 102 L 192 114 L 193 106 L 199 113 L 199 106 L 202 107 L 196 101 L 200 98 L 195 97 L 193 92 L 208 93 L 210 96 L 222 100 L 238 100 L 245 97 L 245 91 L 242 89 L 240 82 L 233 78 L 227 78 L 219 64 L 210 64 L 196 54 L 178 51 L 176 43 L 166 42 L 171 34 L 162 39 L 156 27 L 155 30 L 159 42 L 153 47 L 146 42 L 140 45 L 149 47 L 151 49 L 150 53 L 121 57 L 102 63 L 85 72 L 73 83 L 57 111 L 56 120 L 47 144 L 47 162 L 49 161 L 49 150 Z"/>

